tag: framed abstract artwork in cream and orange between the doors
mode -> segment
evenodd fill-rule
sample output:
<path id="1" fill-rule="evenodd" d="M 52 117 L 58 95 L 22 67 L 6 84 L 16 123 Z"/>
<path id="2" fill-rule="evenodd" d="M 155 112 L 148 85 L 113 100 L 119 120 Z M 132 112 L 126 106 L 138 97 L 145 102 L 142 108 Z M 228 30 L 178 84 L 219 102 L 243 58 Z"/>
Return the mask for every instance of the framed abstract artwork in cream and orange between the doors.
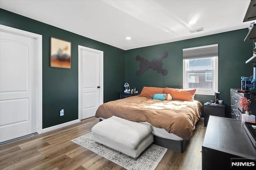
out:
<path id="1" fill-rule="evenodd" d="M 51 37 L 51 67 L 71 68 L 71 43 Z"/>

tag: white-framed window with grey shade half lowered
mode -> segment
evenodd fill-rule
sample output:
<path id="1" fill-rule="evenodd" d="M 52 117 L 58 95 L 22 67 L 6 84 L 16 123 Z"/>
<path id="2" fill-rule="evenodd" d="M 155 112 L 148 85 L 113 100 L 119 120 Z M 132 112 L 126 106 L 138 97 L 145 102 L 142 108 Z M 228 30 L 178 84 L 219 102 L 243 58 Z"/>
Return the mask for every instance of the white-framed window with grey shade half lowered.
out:
<path id="1" fill-rule="evenodd" d="M 218 92 L 218 44 L 183 49 L 183 88 L 200 95 Z"/>

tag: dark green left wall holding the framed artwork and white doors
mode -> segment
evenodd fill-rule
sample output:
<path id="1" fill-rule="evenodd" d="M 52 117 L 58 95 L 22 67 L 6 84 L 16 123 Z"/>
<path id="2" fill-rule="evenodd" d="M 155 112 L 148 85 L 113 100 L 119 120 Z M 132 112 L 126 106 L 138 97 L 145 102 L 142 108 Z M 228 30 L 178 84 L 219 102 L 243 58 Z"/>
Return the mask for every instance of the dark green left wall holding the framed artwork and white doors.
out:
<path id="1" fill-rule="evenodd" d="M 104 102 L 118 99 L 125 82 L 124 50 L 2 9 L 0 24 L 42 35 L 43 128 L 78 119 L 78 45 L 104 51 Z M 50 67 L 51 37 L 71 42 L 71 69 Z"/>

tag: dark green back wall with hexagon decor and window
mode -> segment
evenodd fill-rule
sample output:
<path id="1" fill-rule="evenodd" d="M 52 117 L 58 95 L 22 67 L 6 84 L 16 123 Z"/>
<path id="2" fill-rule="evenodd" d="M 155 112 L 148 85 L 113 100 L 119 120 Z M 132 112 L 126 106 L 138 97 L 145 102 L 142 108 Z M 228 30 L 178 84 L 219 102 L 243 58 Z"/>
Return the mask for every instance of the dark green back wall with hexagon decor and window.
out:
<path id="1" fill-rule="evenodd" d="M 220 99 L 223 99 L 226 105 L 226 113 L 230 113 L 230 88 L 241 88 L 240 77 L 253 75 L 252 63 L 245 64 L 253 53 L 253 43 L 244 42 L 247 33 L 248 29 L 242 29 L 127 50 L 125 53 L 126 82 L 139 91 L 143 86 L 182 88 L 182 49 L 218 44 L 218 91 Z M 140 62 L 135 59 L 136 55 L 152 61 L 163 51 L 169 54 L 167 58 L 162 59 L 164 63 L 162 68 L 168 70 L 166 76 L 148 69 L 136 77 L 135 73 L 140 69 Z M 214 96 L 195 95 L 195 99 L 204 103 L 214 100 Z"/>

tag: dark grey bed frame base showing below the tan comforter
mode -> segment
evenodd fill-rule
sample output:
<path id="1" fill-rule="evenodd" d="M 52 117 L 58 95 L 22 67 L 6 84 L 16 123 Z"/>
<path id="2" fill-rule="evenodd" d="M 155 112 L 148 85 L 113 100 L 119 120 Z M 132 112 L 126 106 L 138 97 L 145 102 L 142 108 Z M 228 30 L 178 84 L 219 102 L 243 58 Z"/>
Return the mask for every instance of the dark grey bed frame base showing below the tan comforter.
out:
<path id="1" fill-rule="evenodd" d="M 100 119 L 100 121 L 103 121 L 103 120 Z M 185 148 L 189 141 L 189 140 L 166 139 L 166 138 L 161 138 L 154 135 L 153 137 L 154 137 L 154 142 L 153 142 L 154 144 L 170 150 L 174 150 L 175 152 L 178 152 L 178 153 L 183 153 L 185 151 Z"/>

